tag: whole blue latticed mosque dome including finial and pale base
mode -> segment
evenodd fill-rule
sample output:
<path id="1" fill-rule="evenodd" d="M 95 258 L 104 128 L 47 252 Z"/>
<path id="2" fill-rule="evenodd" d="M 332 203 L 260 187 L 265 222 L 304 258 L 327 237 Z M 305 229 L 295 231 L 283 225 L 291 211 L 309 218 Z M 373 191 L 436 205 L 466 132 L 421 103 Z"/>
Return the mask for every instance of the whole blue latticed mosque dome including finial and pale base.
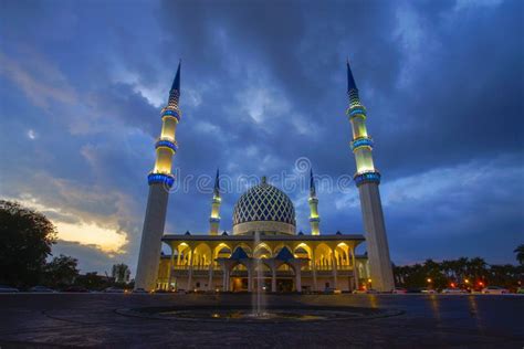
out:
<path id="1" fill-rule="evenodd" d="M 269 184 L 265 177 L 240 197 L 233 210 L 233 234 L 255 231 L 295 233 L 293 202 L 282 190 Z"/>

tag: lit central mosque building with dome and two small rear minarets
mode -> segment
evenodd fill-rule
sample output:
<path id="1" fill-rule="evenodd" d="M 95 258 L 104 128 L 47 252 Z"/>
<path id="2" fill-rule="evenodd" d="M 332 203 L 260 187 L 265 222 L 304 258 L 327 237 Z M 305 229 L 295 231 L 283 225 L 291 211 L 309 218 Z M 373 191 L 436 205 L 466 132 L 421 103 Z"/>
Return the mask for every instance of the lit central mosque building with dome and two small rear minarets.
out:
<path id="1" fill-rule="evenodd" d="M 213 205 L 220 197 L 218 182 L 217 178 Z M 311 198 L 316 199 L 313 179 L 311 183 Z M 316 218 L 317 202 L 312 209 Z M 211 226 L 208 235 L 164 235 L 171 254 L 160 258 L 158 288 L 323 292 L 352 290 L 367 282 L 367 257 L 355 254 L 364 236 L 321 235 L 318 224 L 312 224 L 316 233 L 296 233 L 293 202 L 265 177 L 237 201 L 231 235 L 217 235 Z"/>

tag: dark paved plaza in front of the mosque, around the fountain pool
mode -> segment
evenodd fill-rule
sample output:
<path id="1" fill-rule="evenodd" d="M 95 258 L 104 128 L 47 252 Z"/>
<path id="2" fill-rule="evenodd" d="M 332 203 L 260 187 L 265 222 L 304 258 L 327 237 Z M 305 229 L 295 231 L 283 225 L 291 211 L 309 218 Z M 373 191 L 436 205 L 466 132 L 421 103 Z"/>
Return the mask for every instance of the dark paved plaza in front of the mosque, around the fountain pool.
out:
<path id="1" fill-rule="evenodd" d="M 443 295 L 281 295 L 281 308 L 370 307 L 400 316 L 366 320 L 231 324 L 128 317 L 153 306 L 245 306 L 250 295 L 0 295 L 0 348 L 265 347 L 524 348 L 524 297 Z"/>

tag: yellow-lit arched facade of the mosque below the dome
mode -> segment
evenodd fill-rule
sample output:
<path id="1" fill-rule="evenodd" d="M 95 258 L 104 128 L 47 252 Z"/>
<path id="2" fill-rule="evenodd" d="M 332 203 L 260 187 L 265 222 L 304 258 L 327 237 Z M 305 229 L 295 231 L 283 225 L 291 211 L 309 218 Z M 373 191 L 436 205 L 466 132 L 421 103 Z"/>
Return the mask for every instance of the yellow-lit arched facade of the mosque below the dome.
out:
<path id="1" fill-rule="evenodd" d="M 165 235 L 157 288 L 268 292 L 353 290 L 367 281 L 361 235 Z"/>

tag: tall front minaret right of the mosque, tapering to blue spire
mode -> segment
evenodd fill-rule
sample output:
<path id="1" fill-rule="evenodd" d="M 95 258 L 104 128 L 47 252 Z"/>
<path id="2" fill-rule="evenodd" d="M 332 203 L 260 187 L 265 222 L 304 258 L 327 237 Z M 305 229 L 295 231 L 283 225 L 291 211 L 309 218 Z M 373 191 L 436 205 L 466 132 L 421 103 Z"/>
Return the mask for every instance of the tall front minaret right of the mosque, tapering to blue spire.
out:
<path id="1" fill-rule="evenodd" d="M 357 162 L 357 172 L 354 179 L 360 195 L 371 285 L 373 288 L 387 292 L 391 290 L 395 284 L 384 224 L 382 204 L 378 191 L 380 173 L 373 163 L 373 139 L 367 135 L 366 108 L 358 97 L 358 88 L 353 78 L 349 61 L 347 62 L 347 94 L 349 96 L 349 107 L 346 114 L 353 129 L 350 146 Z"/>

